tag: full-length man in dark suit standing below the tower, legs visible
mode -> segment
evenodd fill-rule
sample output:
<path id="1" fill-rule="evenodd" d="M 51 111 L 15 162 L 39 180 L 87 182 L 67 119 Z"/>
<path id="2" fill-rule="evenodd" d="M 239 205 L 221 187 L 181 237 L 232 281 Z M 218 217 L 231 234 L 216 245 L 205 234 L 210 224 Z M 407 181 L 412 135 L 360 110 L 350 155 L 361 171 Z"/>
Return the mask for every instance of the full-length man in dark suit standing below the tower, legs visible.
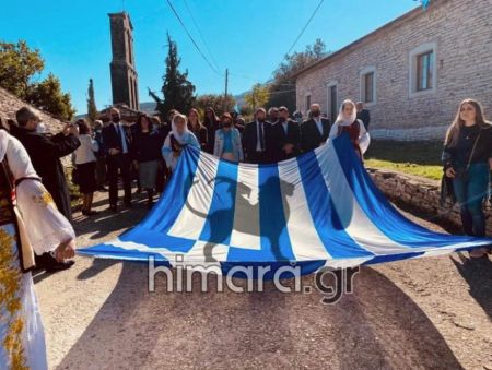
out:
<path id="1" fill-rule="evenodd" d="M 103 141 L 107 150 L 107 171 L 109 177 L 109 208 L 117 211 L 118 170 L 125 189 L 125 205 L 131 207 L 131 130 L 124 126 L 119 110 L 109 110 L 110 123 L 103 129 Z"/>

